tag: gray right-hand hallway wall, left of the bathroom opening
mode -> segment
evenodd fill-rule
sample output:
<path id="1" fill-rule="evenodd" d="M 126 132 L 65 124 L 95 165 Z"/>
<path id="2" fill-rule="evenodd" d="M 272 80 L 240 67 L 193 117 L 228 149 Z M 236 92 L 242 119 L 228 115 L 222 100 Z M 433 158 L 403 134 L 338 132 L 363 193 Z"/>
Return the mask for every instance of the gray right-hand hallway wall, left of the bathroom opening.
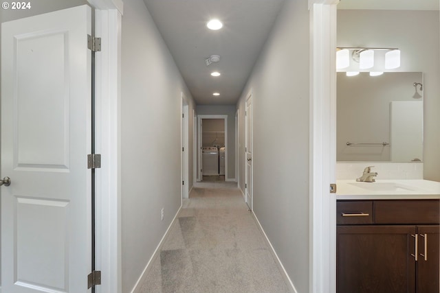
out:
<path id="1" fill-rule="evenodd" d="M 261 52 L 239 108 L 245 146 L 245 99 L 252 93 L 254 213 L 297 292 L 309 291 L 309 11 L 287 0 Z M 245 156 L 239 187 L 244 192 Z"/>

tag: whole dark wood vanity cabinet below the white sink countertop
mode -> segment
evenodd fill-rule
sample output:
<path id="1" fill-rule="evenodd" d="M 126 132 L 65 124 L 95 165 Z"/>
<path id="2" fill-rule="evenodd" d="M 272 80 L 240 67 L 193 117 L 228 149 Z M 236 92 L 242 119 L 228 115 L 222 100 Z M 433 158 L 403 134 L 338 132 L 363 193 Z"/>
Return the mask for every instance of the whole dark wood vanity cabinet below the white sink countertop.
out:
<path id="1" fill-rule="evenodd" d="M 336 292 L 439 293 L 439 200 L 338 200 Z"/>

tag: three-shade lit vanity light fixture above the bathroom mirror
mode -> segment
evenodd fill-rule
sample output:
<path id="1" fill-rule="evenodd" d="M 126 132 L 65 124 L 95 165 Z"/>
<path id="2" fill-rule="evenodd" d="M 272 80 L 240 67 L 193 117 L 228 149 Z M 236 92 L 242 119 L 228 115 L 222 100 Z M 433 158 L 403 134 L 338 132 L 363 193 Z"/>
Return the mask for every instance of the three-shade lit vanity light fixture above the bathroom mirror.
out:
<path id="1" fill-rule="evenodd" d="M 359 63 L 359 69 L 371 69 L 375 66 L 375 51 L 386 51 L 384 69 L 400 67 L 400 50 L 398 48 L 367 48 L 367 47 L 338 47 L 336 48 L 336 69 L 344 69 L 350 65 L 351 59 Z"/>

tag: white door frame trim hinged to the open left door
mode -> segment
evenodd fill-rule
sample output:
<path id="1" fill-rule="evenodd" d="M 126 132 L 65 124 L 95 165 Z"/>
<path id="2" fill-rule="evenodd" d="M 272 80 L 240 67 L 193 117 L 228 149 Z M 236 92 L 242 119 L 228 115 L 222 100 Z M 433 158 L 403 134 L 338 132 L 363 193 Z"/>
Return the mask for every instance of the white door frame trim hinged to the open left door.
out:
<path id="1" fill-rule="evenodd" d="M 99 3 L 98 3 L 99 2 Z M 96 8 L 95 34 L 101 51 L 96 52 L 96 269 L 102 271 L 97 293 L 122 292 L 121 183 L 120 183 L 120 68 L 122 1 L 89 0 Z"/>

